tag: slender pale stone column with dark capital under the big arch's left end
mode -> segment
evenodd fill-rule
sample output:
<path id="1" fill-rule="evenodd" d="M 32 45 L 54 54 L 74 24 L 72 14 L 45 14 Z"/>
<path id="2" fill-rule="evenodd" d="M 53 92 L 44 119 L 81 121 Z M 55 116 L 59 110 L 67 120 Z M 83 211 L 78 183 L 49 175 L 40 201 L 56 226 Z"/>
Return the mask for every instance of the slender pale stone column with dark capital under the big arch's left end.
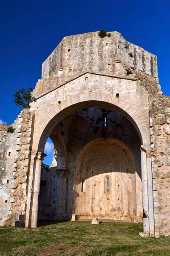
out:
<path id="1" fill-rule="evenodd" d="M 37 152 L 37 160 L 35 166 L 34 175 L 34 192 L 33 192 L 33 202 L 32 202 L 32 215 L 31 215 L 31 227 L 37 227 L 38 221 L 38 197 L 40 194 L 40 181 L 41 181 L 41 166 L 42 160 L 46 157 L 46 154 L 42 152 Z"/>

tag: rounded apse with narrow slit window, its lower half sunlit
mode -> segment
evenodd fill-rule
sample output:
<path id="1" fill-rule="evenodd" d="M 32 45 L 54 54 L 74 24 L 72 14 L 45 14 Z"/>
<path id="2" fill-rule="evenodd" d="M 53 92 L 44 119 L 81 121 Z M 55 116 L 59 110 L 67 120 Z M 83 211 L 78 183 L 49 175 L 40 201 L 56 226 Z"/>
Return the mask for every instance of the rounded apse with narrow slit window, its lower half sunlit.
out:
<path id="1" fill-rule="evenodd" d="M 85 145 L 76 161 L 74 214 L 77 220 L 143 221 L 142 182 L 130 149 L 112 138 Z"/>

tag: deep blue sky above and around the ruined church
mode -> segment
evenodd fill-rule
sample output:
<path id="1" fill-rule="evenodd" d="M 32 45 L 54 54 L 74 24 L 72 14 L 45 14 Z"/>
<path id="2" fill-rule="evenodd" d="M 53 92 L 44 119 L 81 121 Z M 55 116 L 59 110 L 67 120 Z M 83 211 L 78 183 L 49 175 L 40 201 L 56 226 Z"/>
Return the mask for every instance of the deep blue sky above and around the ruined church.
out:
<path id="1" fill-rule="evenodd" d="M 42 62 L 64 36 L 100 29 L 158 56 L 159 81 L 169 90 L 170 2 L 158 0 L 5 0 L 0 6 L 0 119 L 14 122 L 14 93 L 35 87 Z M 1 121 L 1 122 L 2 122 Z"/>

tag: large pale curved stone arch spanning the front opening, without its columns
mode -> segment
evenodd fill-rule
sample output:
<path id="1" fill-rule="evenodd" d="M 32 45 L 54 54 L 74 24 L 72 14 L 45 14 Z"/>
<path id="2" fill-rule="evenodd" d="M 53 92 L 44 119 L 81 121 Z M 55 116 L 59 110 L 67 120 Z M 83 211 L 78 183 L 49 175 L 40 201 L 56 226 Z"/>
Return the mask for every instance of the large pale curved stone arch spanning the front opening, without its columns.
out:
<path id="1" fill-rule="evenodd" d="M 39 99 L 37 99 L 37 101 L 38 100 Z M 48 135 L 58 122 L 74 111 L 90 107 L 108 108 L 121 113 L 136 128 L 141 139 L 141 144 L 149 144 L 149 121 L 147 120 L 147 122 L 143 122 L 139 111 L 136 111 L 127 102 L 114 96 L 101 94 L 99 92 L 86 92 L 66 99 L 65 101 L 61 102 L 59 106 L 55 106 L 55 108 L 50 109 L 48 114 L 44 113 L 42 114 L 42 117 L 39 116 L 39 118 L 42 119 L 41 127 L 39 125 L 40 122 L 35 122 L 34 128 L 36 129 L 37 127 L 39 132 L 36 136 L 37 139 L 33 141 L 33 149 L 35 151 L 43 151 Z"/>

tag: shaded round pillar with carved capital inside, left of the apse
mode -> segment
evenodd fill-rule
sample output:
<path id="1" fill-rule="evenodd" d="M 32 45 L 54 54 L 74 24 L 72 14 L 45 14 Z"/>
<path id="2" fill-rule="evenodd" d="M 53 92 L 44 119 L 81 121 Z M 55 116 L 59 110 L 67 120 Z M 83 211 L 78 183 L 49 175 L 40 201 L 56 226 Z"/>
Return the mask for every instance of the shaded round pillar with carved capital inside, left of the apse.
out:
<path id="1" fill-rule="evenodd" d="M 58 169 L 57 172 L 57 202 L 56 202 L 56 218 L 62 219 L 66 214 L 67 207 L 67 177 L 68 171 Z"/>

